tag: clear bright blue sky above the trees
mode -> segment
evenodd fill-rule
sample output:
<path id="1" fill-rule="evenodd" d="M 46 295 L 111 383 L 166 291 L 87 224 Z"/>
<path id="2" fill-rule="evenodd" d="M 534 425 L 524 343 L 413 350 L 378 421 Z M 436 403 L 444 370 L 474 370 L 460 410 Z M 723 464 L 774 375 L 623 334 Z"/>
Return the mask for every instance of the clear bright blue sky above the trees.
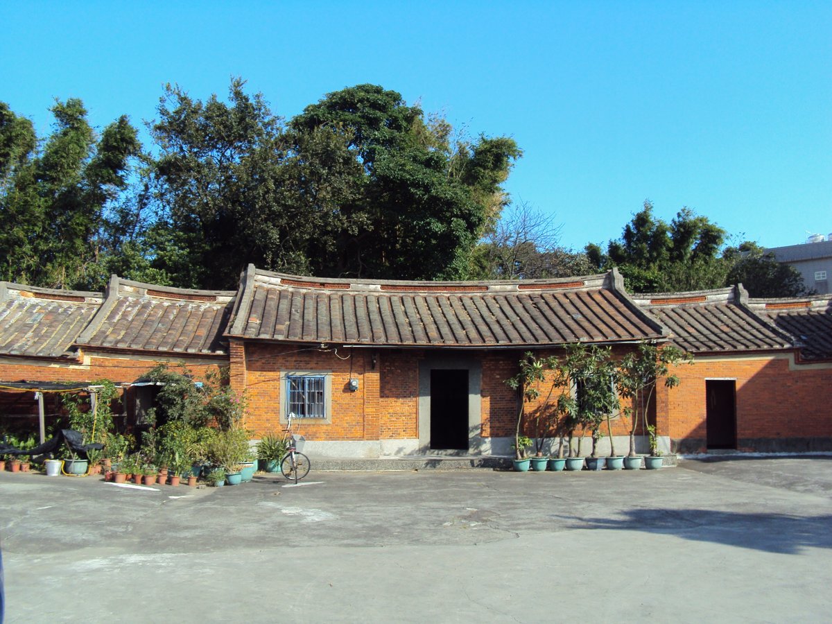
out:
<path id="1" fill-rule="evenodd" d="M 832 233 L 832 2 L 8 2 L 0 100 L 151 120 L 230 77 L 290 117 L 371 82 L 525 155 L 507 189 L 563 245 L 649 198 L 765 246 Z"/>

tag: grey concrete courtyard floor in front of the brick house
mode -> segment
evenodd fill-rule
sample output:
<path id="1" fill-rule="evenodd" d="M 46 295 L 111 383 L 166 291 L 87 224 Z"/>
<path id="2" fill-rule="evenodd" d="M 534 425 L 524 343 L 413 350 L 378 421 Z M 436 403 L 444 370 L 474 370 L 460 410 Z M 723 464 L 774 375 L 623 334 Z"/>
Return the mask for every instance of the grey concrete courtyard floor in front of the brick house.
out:
<path id="1" fill-rule="evenodd" d="M 7 622 L 823 622 L 832 458 L 313 472 L 225 488 L 0 474 Z"/>

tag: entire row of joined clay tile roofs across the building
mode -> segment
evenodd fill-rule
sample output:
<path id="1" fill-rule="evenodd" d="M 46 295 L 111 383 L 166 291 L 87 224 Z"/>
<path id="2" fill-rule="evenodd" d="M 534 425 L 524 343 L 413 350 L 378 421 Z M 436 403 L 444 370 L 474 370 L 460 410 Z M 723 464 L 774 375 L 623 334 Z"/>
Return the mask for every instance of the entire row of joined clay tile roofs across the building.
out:
<path id="1" fill-rule="evenodd" d="M 798 347 L 803 359 L 832 359 L 832 301 L 749 300 L 741 286 L 628 295 L 615 270 L 566 280 L 379 282 L 250 265 L 236 293 L 115 275 L 104 294 L 0 283 L 0 354 L 219 355 L 229 338 L 480 349 L 671 339 L 694 354 Z"/>

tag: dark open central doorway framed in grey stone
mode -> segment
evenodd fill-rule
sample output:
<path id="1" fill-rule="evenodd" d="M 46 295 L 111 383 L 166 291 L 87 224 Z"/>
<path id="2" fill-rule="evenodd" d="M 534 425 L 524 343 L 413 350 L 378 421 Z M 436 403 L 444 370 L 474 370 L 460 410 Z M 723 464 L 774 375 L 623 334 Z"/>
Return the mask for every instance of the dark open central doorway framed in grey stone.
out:
<path id="1" fill-rule="evenodd" d="M 430 448 L 468 450 L 468 370 L 430 371 Z"/>

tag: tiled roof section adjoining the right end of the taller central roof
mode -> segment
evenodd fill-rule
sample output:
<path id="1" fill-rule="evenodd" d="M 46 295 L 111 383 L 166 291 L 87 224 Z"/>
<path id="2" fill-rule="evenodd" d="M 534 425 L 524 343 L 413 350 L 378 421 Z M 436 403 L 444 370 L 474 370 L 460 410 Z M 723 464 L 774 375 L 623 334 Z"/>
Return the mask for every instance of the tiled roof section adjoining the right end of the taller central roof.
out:
<path id="1" fill-rule="evenodd" d="M 632 295 L 690 353 L 788 349 L 790 340 L 745 305 L 740 288 Z"/>

